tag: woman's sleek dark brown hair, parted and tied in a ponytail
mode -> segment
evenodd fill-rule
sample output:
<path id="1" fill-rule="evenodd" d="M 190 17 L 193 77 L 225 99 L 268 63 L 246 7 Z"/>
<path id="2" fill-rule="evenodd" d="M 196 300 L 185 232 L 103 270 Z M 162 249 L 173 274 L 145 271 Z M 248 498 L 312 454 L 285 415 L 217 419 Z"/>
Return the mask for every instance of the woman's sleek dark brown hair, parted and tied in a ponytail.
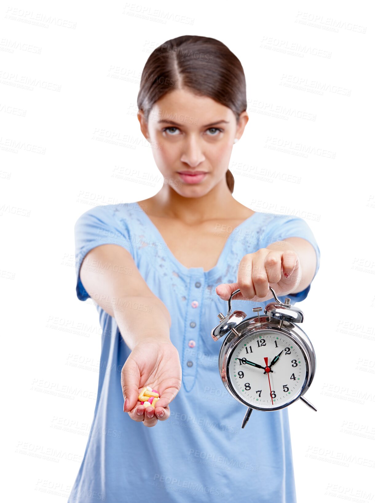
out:
<path id="1" fill-rule="evenodd" d="M 157 47 L 144 65 L 137 98 L 138 109 L 148 120 L 154 103 L 175 89 L 186 88 L 229 107 L 238 123 L 246 110 L 246 81 L 240 60 L 219 40 L 183 35 Z M 227 184 L 233 193 L 230 170 Z"/>

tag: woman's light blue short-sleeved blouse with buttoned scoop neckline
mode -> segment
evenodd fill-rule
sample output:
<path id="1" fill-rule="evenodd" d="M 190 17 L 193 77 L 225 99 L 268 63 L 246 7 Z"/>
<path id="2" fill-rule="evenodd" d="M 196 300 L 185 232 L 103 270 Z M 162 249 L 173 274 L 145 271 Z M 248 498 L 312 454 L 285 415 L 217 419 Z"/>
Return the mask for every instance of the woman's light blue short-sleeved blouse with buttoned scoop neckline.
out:
<path id="1" fill-rule="evenodd" d="M 68 503 L 295 503 L 288 408 L 254 409 L 242 429 L 247 407 L 221 381 L 218 354 L 223 341 L 213 341 L 210 332 L 218 324 L 217 314 L 228 311 L 215 287 L 237 281 L 244 255 L 287 237 L 303 237 L 316 251 L 316 275 L 320 250 L 306 221 L 254 213 L 233 229 L 209 271 L 184 267 L 138 203 L 92 208 L 79 217 L 74 232 L 78 298 L 89 298 L 79 277 L 88 251 L 107 243 L 126 248 L 171 314 L 170 337 L 180 355 L 182 386 L 170 403 L 167 421 L 146 428 L 131 420 L 123 411 L 120 384 L 130 350 L 115 318 L 96 305 L 102 328 L 98 398 Z M 310 288 L 288 294 L 291 304 L 304 300 Z M 253 307 L 264 308 L 268 302 L 232 300 L 232 309 L 253 316 Z"/>

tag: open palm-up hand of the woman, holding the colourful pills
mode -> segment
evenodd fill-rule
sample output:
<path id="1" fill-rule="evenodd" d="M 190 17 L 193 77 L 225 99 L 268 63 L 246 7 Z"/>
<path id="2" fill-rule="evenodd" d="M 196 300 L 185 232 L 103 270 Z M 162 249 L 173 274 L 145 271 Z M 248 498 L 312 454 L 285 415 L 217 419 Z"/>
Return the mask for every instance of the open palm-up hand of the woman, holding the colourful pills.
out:
<path id="1" fill-rule="evenodd" d="M 156 338 L 143 339 L 128 356 L 121 370 L 121 387 L 124 395 L 124 412 L 134 421 L 143 421 L 151 427 L 158 420 L 165 421 L 170 416 L 169 403 L 181 388 L 182 369 L 176 347 L 170 341 Z M 156 407 L 144 407 L 138 395 L 145 386 L 159 392 Z M 125 400 L 129 400 L 125 407 Z M 137 414 L 141 410 L 141 414 Z"/>

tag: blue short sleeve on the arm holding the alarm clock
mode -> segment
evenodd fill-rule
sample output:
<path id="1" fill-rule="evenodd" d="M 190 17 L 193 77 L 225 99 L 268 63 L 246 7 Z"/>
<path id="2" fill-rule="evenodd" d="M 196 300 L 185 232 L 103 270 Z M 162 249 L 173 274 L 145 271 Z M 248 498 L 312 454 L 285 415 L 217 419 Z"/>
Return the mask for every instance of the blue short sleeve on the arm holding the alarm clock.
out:
<path id="1" fill-rule="evenodd" d="M 288 215 L 277 215 L 272 218 L 260 235 L 259 248 L 266 248 L 269 244 L 274 243 L 275 241 L 281 241 L 287 237 L 302 237 L 313 245 L 317 256 L 317 266 L 314 274 L 315 278 L 320 266 L 320 249 L 313 231 L 303 218 Z M 287 297 L 290 298 L 291 303 L 301 302 L 308 296 L 310 288 L 311 283 L 305 288 L 305 290 L 297 293 L 289 293 Z"/>

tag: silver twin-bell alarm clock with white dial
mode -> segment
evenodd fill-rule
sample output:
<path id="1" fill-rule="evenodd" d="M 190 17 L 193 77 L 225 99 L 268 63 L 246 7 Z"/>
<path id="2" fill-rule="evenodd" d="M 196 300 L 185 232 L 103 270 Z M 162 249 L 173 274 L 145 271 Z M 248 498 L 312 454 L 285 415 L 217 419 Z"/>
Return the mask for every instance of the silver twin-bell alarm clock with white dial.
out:
<path id="1" fill-rule="evenodd" d="M 231 300 L 240 292 L 235 290 L 228 300 L 228 313 L 217 315 L 220 323 L 211 330 L 214 341 L 223 340 L 218 366 L 227 391 L 248 409 L 242 422 L 245 428 L 253 409 L 267 412 L 287 407 L 300 398 L 317 410 L 303 395 L 314 379 L 316 357 L 307 334 L 297 323 L 304 313 L 281 302 L 269 287 L 275 301 L 257 315 L 246 317 L 243 311 L 231 312 Z"/>

